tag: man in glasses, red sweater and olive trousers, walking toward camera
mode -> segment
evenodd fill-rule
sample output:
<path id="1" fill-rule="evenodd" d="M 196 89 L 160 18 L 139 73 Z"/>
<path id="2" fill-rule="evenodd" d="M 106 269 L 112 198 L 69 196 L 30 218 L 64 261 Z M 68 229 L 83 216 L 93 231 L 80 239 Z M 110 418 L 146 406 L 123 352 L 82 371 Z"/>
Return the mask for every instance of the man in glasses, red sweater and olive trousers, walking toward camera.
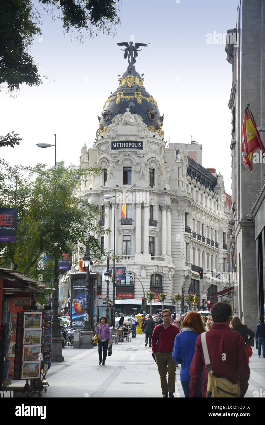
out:
<path id="1" fill-rule="evenodd" d="M 155 326 L 151 345 L 152 352 L 155 354 L 155 360 L 158 365 L 163 398 L 167 398 L 168 396 L 174 397 L 173 393 L 175 393 L 176 363 L 172 359 L 172 351 L 174 348 L 175 336 L 179 333 L 179 330 L 177 326 L 171 325 L 171 312 L 169 310 L 163 310 L 163 312 L 161 312 L 161 317 L 163 319 L 163 324 L 161 323 Z M 168 382 L 166 380 L 166 372 L 169 375 Z"/>

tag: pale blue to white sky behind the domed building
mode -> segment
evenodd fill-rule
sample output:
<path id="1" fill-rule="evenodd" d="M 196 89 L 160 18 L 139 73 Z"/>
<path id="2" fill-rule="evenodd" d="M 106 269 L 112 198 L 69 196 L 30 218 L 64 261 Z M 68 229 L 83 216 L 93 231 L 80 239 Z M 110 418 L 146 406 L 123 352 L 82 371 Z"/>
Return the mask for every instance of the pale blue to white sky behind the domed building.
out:
<path id="1" fill-rule="evenodd" d="M 36 144 L 54 144 L 56 133 L 56 161 L 78 165 L 82 146 L 95 142 L 104 102 L 128 65 L 116 42 L 129 42 L 133 35 L 135 42 L 150 43 L 139 52 L 135 67 L 164 114 L 165 141 L 170 137 L 170 143 L 202 144 L 203 167 L 220 172 L 231 193 L 232 68 L 223 34 L 235 28 L 238 4 L 124 0 L 114 37 L 87 37 L 82 42 L 64 35 L 62 22 L 44 11 L 42 37 L 30 48 L 43 85 L 23 85 L 15 96 L 5 89 L 0 92 L 0 134 L 14 131 L 23 138 L 13 149 L 1 148 L 0 156 L 11 165 L 52 166 L 54 148 Z"/>

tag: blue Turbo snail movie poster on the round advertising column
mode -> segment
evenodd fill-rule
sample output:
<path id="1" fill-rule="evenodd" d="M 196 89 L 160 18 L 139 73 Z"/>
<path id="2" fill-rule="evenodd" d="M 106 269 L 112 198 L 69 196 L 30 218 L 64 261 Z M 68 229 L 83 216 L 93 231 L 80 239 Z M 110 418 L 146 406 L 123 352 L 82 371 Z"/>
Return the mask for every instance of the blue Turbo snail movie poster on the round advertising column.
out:
<path id="1" fill-rule="evenodd" d="M 71 325 L 75 331 L 81 331 L 85 317 L 86 285 L 72 281 Z"/>

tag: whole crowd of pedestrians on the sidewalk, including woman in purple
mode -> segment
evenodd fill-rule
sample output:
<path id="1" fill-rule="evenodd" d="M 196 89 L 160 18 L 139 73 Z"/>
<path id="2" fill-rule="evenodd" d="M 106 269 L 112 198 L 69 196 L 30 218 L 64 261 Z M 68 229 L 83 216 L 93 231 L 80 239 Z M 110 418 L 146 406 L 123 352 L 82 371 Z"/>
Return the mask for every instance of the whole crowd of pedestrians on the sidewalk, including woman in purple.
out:
<path id="1" fill-rule="evenodd" d="M 211 395 L 207 387 L 210 371 L 213 372 L 211 376 L 225 378 L 229 384 L 238 385 L 240 389 L 235 397 L 244 397 L 250 376 L 250 343 L 254 345 L 254 338 L 257 341 L 258 357 L 262 354 L 265 358 L 265 324 L 264 318 L 259 317 L 254 333 L 239 317 L 232 316 L 231 313 L 228 303 L 219 302 L 214 304 L 211 314 L 198 314 L 195 311 L 172 314 L 165 309 L 154 318 L 150 314 L 142 315 L 141 329 L 145 334 L 145 346 L 152 347 L 163 398 L 174 397 L 178 365 L 181 365 L 180 382 L 185 397 L 218 397 Z M 118 327 L 122 328 L 124 338 L 129 330 L 129 324 L 124 323 L 127 314 L 124 312 L 116 316 L 120 317 Z M 135 338 L 138 325 L 135 314 L 131 316 L 131 325 L 132 337 Z M 99 333 L 99 364 L 104 365 L 110 342 L 110 328 L 106 317 L 101 317 L 96 333 Z M 205 358 L 209 364 L 206 364 Z M 230 394 L 222 397 L 230 397 Z"/>

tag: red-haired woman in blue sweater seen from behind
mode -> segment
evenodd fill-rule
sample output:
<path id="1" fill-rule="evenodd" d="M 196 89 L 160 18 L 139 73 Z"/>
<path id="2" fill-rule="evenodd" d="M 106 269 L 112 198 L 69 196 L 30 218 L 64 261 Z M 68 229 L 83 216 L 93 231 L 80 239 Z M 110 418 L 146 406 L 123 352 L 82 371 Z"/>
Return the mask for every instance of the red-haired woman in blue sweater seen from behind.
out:
<path id="1" fill-rule="evenodd" d="M 200 314 L 197 312 L 188 312 L 182 322 L 182 329 L 175 337 L 174 348 L 172 352 L 173 360 L 181 364 L 180 369 L 180 382 L 185 394 L 189 397 L 189 367 L 192 363 L 192 357 L 195 352 L 195 345 L 198 335 L 205 332 L 205 327 L 201 320 Z M 203 381 L 203 374 L 201 376 L 200 387 Z M 200 387 L 198 390 L 198 397 L 202 397 Z"/>

